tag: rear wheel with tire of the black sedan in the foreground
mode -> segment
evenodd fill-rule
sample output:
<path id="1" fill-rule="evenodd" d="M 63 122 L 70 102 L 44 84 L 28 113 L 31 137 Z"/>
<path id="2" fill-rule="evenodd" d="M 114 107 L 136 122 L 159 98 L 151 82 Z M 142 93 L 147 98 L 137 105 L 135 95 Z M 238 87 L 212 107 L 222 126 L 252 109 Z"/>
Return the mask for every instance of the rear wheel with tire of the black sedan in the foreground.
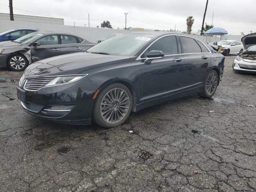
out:
<path id="1" fill-rule="evenodd" d="M 199 93 L 204 98 L 210 98 L 216 92 L 219 76 L 215 70 L 211 70 L 204 81 L 203 92 Z"/>

